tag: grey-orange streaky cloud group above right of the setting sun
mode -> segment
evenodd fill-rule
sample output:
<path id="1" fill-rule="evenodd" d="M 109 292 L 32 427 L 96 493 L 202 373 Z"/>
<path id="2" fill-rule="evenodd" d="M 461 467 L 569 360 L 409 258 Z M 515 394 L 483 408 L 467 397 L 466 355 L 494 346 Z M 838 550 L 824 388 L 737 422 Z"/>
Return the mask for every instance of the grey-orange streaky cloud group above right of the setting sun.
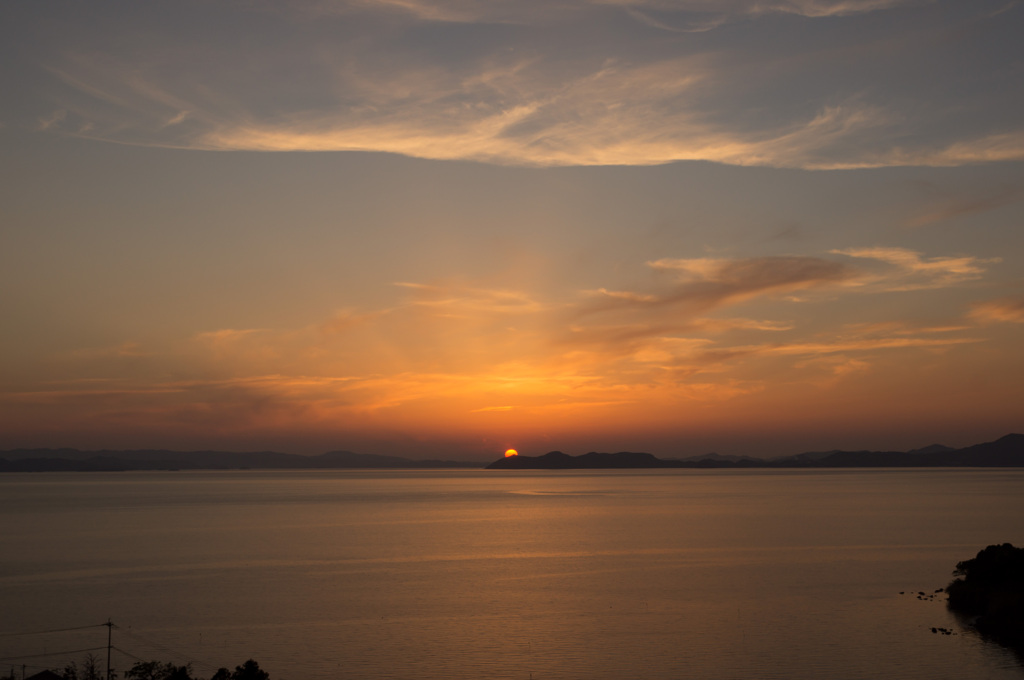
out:
<path id="1" fill-rule="evenodd" d="M 817 355 L 864 356 L 895 350 L 944 350 L 982 341 L 965 333 L 959 324 L 906 326 L 873 324 L 843 327 L 808 337 L 815 303 L 852 304 L 862 293 L 938 290 L 977 281 L 988 260 L 963 257 L 924 257 L 899 248 L 835 251 L 860 266 L 822 257 L 690 258 L 654 260 L 648 266 L 664 275 L 651 289 L 589 291 L 579 305 L 566 311 L 569 324 L 559 343 L 596 352 L 605 360 L 664 364 L 690 375 L 722 372 L 724 367 L 767 357 Z M 753 320 L 718 314 L 739 304 L 763 300 L 802 302 L 783 320 Z M 790 303 L 792 304 L 792 303 Z M 798 323 L 795 318 L 802 318 Z M 820 332 L 820 329 L 819 331 Z M 770 336 L 784 339 L 770 340 Z M 726 339 L 728 338 L 728 339 Z M 743 338 L 758 338 L 755 343 Z M 837 359 L 839 360 L 839 359 Z M 844 359 L 845 360 L 845 359 Z M 851 359 L 854 360 L 854 359 Z M 669 369 L 667 369 L 669 370 Z"/>

